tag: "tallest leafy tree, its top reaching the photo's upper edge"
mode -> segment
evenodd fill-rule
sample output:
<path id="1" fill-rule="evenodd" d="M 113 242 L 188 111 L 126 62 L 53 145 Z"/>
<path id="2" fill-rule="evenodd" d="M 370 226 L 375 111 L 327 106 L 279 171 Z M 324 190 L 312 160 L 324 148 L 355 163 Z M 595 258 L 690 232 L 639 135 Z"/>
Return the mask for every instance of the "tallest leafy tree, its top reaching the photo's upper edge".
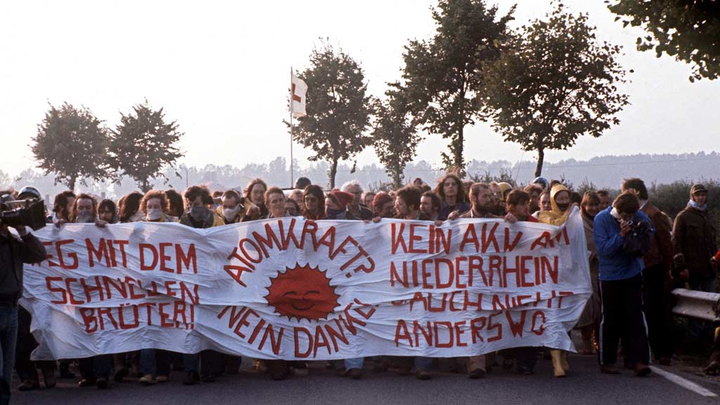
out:
<path id="1" fill-rule="evenodd" d="M 408 101 L 428 133 L 449 139 L 449 153 L 441 153 L 448 169 L 463 172 L 464 128 L 472 125 L 482 99 L 482 61 L 498 55 L 515 7 L 497 19 L 498 7 L 484 0 L 440 0 L 433 9 L 437 30 L 431 40 L 412 40 L 405 46 L 402 79 Z"/>

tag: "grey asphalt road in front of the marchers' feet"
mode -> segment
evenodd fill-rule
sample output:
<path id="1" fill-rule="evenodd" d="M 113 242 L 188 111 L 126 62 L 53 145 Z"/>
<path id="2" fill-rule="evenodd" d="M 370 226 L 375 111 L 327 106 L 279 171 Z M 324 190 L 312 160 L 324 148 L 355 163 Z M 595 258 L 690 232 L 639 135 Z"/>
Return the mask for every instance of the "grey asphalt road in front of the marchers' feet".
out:
<path id="1" fill-rule="evenodd" d="M 535 375 L 521 376 L 503 370 L 481 380 L 464 375 L 436 371 L 429 381 L 395 373 L 366 371 L 363 380 L 337 377 L 322 365 L 313 365 L 310 375 L 271 381 L 267 375 L 243 370 L 239 375 L 224 375 L 216 383 L 183 386 L 183 374 L 173 373 L 171 381 L 156 386 L 140 386 L 137 380 L 114 383 L 106 391 L 78 388 L 76 381 L 58 380 L 53 389 L 19 392 L 14 389 L 14 405 L 60 404 L 717 404 L 720 383 L 696 377 L 673 368 L 664 368 L 698 386 L 719 395 L 708 398 L 678 386 L 653 373 L 636 378 L 598 372 L 594 357 L 570 356 L 572 373 L 564 379 L 552 378 L 548 360 L 539 360 Z M 15 384 L 17 386 L 17 383 Z"/>

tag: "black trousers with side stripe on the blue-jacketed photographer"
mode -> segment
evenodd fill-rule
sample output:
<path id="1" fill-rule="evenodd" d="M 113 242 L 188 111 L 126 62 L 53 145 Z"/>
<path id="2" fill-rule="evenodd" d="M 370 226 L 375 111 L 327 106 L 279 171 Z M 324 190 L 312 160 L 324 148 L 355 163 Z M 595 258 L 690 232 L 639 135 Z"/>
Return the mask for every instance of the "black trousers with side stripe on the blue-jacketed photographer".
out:
<path id="1" fill-rule="evenodd" d="M 642 312 L 642 275 L 625 280 L 600 280 L 603 318 L 600 321 L 600 365 L 614 365 L 618 357 L 618 343 L 623 339 L 623 351 L 628 364 L 649 364 L 647 326 Z"/>

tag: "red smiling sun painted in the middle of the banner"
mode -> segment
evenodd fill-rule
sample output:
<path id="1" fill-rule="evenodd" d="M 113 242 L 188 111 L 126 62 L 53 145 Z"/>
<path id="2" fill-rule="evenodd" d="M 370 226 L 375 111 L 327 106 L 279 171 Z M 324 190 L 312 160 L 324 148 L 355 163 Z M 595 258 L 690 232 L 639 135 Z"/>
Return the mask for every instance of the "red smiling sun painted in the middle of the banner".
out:
<path id="1" fill-rule="evenodd" d="M 271 278 L 266 300 L 281 316 L 298 320 L 328 319 L 335 307 L 340 305 L 335 287 L 318 267 L 295 265 L 287 267 L 284 273 Z"/>

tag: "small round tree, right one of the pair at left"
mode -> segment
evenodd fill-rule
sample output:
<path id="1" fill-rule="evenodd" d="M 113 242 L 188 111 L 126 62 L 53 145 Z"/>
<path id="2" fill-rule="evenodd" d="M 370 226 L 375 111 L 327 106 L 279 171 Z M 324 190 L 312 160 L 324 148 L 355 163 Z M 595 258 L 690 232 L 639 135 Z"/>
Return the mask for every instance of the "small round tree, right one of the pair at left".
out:
<path id="1" fill-rule="evenodd" d="M 152 179 L 161 177 L 167 166 L 175 167 L 177 159 L 184 156 L 176 146 L 184 133 L 178 130 L 176 121 L 165 122 L 163 109 L 152 110 L 148 101 L 132 107 L 132 112 L 121 113 L 120 125 L 112 132 L 112 166 L 135 179 L 140 190 L 152 189 Z"/>

